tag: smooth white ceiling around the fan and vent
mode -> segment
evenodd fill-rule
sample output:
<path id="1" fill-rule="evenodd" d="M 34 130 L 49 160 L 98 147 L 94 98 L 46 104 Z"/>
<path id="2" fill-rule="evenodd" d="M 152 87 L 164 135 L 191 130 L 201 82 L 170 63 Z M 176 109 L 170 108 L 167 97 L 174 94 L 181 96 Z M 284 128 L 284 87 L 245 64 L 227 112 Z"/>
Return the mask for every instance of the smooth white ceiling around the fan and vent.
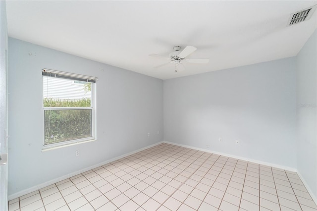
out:
<path id="1" fill-rule="evenodd" d="M 8 34 L 30 43 L 160 79 L 295 56 L 317 28 L 317 15 L 286 27 L 289 15 L 317 0 L 7 1 Z M 209 64 L 173 65 L 174 46 L 198 50 Z"/>

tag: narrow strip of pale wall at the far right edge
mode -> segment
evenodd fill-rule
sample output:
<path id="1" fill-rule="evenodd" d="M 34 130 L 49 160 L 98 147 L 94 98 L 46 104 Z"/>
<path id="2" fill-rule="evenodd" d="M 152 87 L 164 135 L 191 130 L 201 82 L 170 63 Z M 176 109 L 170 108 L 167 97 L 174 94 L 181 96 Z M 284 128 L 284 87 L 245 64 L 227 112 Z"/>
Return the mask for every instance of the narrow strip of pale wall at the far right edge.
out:
<path id="1" fill-rule="evenodd" d="M 297 169 L 317 199 L 317 31 L 297 55 Z"/>

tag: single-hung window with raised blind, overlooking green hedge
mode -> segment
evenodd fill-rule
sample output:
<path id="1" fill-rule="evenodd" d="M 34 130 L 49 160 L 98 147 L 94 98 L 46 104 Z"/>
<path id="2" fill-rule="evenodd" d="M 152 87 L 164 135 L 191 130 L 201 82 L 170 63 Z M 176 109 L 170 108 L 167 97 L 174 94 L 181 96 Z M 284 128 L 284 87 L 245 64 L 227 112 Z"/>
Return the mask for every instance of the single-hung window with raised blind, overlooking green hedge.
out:
<path id="1" fill-rule="evenodd" d="M 95 139 L 97 78 L 43 69 L 44 147 Z"/>

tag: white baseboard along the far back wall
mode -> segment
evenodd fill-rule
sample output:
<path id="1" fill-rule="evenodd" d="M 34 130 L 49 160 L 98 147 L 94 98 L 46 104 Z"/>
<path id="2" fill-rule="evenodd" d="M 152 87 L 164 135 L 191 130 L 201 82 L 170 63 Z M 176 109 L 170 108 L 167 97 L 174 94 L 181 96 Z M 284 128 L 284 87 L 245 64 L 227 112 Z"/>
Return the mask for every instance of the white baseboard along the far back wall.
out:
<path id="1" fill-rule="evenodd" d="M 278 164 L 275 164 L 275 163 L 264 162 L 264 161 L 261 161 L 261 160 L 256 160 L 256 159 L 250 159 L 250 158 L 245 158 L 245 157 L 225 154 L 225 153 L 216 152 L 216 151 L 212 151 L 212 150 L 206 150 L 206 149 L 202 149 L 202 148 L 198 148 L 198 147 L 192 147 L 192 146 L 188 146 L 188 145 L 177 144 L 177 143 L 169 142 L 169 141 L 163 141 L 163 143 L 172 144 L 172 145 L 176 145 L 176 146 L 180 146 L 180 147 L 186 147 L 186 148 L 190 148 L 190 149 L 193 149 L 193 150 L 199 150 L 199 151 L 203 151 L 203 152 L 207 152 L 207 153 L 217 154 L 217 155 L 220 155 L 220 156 L 226 156 L 226 157 L 230 157 L 230 158 L 242 159 L 242 160 L 246 160 L 246 161 L 249 161 L 249 162 L 254 162 L 254 163 L 258 163 L 258 164 L 262 164 L 262 165 L 268 165 L 268 166 L 275 167 L 275 168 L 281 168 L 281 169 L 284 169 L 284 170 L 297 172 L 296 168 L 291 168 L 291 167 L 288 167 L 288 166 L 278 165 Z"/>

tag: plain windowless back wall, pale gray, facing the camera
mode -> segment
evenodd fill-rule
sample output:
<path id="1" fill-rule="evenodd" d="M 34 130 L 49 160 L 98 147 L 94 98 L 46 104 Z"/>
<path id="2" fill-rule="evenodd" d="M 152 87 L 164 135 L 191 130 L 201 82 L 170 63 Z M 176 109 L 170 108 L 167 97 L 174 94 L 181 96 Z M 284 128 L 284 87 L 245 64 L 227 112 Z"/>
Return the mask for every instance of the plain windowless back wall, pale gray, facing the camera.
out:
<path id="1" fill-rule="evenodd" d="M 296 58 L 164 80 L 164 140 L 296 168 Z"/>

